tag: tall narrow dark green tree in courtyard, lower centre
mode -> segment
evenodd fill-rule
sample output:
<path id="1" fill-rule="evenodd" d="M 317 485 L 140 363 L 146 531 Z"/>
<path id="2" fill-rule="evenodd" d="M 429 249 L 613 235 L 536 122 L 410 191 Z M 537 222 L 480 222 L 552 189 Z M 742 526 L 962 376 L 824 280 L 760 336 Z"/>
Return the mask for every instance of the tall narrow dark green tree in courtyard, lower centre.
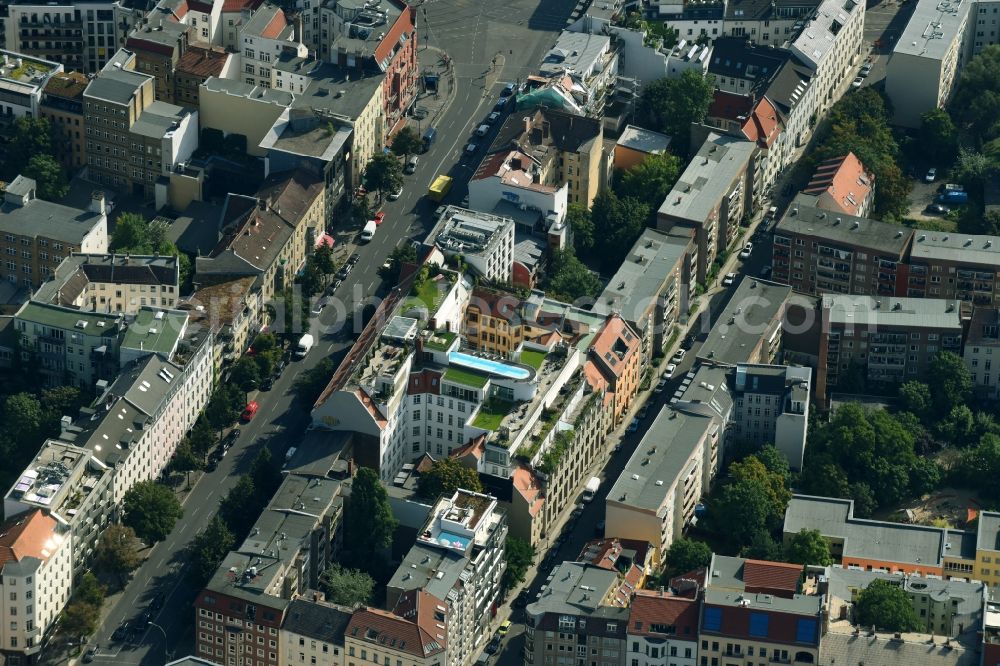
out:
<path id="1" fill-rule="evenodd" d="M 353 559 L 357 562 L 380 559 L 382 551 L 392 545 L 397 524 L 378 473 L 362 467 L 354 476 L 344 511 L 344 545 Z"/>

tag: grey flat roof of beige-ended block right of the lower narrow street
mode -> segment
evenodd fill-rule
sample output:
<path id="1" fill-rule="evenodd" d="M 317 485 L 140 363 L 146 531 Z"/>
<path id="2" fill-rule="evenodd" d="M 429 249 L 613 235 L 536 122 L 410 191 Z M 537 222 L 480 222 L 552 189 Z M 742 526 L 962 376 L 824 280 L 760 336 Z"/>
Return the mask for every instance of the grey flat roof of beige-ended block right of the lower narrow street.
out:
<path id="1" fill-rule="evenodd" d="M 709 428 L 718 422 L 664 407 L 643 436 L 608 501 L 656 512 Z"/>

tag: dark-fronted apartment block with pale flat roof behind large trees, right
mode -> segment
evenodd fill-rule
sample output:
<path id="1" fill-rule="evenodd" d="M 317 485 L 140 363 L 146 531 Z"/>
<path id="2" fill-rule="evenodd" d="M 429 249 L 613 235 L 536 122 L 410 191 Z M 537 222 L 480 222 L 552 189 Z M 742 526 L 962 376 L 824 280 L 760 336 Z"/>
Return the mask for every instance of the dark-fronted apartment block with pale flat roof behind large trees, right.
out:
<path id="1" fill-rule="evenodd" d="M 898 385 L 924 377 L 938 352 L 961 354 L 957 301 L 827 294 L 821 308 L 816 382 L 821 400 L 852 367 L 868 381 Z"/>

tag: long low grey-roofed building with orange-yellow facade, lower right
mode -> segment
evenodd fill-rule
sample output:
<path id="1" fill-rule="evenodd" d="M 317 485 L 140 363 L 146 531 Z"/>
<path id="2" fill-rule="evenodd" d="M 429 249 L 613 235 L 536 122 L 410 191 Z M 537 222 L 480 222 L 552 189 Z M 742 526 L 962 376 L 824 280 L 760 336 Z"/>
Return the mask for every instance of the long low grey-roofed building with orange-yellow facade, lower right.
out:
<path id="1" fill-rule="evenodd" d="M 1000 580 L 994 567 L 1000 514 L 983 511 L 979 520 L 975 532 L 963 532 L 862 519 L 854 515 L 853 500 L 793 495 L 782 532 L 787 543 L 802 530 L 819 530 L 830 553 L 848 569 L 974 578 L 992 586 Z"/>

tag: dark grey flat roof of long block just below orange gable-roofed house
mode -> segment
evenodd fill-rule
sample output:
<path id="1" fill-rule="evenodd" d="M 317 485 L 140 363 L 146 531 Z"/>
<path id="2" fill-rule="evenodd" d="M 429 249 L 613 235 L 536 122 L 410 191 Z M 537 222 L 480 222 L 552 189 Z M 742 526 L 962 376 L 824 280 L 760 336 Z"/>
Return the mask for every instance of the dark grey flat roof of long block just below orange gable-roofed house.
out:
<path id="1" fill-rule="evenodd" d="M 871 248 L 900 256 L 913 238 L 913 230 L 898 224 L 833 213 L 812 205 L 812 197 L 799 195 L 775 227 L 782 232 L 824 239 L 842 245 Z"/>

